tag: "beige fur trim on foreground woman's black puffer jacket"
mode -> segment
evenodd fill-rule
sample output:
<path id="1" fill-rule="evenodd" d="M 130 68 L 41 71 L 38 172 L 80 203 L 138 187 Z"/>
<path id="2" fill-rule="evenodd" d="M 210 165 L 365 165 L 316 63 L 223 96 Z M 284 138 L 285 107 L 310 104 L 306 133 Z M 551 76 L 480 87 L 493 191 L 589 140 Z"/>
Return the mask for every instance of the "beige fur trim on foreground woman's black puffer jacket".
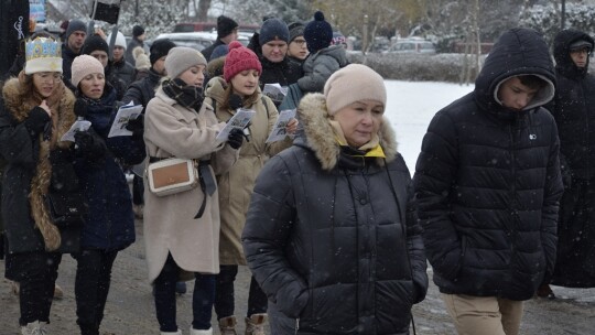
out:
<path id="1" fill-rule="evenodd" d="M 326 110 L 326 100 L 323 94 L 307 94 L 300 101 L 298 107 L 300 122 L 304 127 L 304 137 L 306 144 L 322 164 L 323 170 L 333 170 L 340 155 L 340 147 L 333 136 L 333 127 L 328 122 L 328 111 Z M 378 131 L 380 147 L 385 151 L 386 161 L 391 162 L 397 156 L 397 134 L 390 121 L 382 117 L 382 125 Z M 298 143 L 300 141 L 298 140 Z M 385 159 L 377 159 L 378 165 L 385 164 Z"/>

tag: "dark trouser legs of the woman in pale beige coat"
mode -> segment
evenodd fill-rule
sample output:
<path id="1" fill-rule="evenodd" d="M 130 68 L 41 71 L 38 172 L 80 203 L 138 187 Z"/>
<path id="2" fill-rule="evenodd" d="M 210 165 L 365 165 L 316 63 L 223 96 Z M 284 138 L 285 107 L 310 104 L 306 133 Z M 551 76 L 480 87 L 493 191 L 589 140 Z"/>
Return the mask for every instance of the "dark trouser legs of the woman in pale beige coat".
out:
<path id="1" fill-rule="evenodd" d="M 194 274 L 194 294 L 192 296 L 192 326 L 195 329 L 210 328 L 213 303 L 215 301 L 215 274 Z M 175 283 L 180 277 L 180 267 L 172 255 L 154 281 L 155 310 L 161 332 L 176 332 Z"/>

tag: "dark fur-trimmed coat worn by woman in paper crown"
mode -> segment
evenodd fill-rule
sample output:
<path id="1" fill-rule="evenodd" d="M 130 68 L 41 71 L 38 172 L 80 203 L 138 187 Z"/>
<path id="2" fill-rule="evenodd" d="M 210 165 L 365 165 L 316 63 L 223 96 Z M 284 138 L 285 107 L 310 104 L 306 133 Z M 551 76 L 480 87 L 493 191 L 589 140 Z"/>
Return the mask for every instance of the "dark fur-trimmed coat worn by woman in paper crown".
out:
<path id="1" fill-rule="evenodd" d="M 24 75 L 24 73 L 22 73 Z M 57 119 L 54 120 L 53 140 L 42 140 L 43 133 L 32 137 L 24 125 L 33 108 L 39 104 L 33 95 L 23 97 L 25 89 L 20 78 L 6 83 L 0 101 L 0 153 L 6 160 L 2 193 L 2 216 L 9 252 L 43 250 L 76 251 L 80 229 L 77 226 L 58 229 L 51 221 L 45 195 L 51 183 L 51 150 L 68 150 L 72 142 L 61 142 L 75 121 L 74 96 L 64 85 L 55 97 Z M 48 105 L 53 106 L 53 104 Z"/>

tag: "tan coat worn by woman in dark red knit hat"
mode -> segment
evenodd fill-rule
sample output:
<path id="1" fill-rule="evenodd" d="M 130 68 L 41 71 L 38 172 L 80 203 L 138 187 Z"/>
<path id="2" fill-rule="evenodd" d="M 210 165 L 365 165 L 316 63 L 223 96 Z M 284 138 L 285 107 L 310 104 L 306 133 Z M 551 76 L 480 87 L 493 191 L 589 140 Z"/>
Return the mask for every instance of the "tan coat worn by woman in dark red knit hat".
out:
<path id="1" fill-rule="evenodd" d="M 234 116 L 235 111 L 220 108 L 220 105 L 224 102 L 224 85 L 226 85 L 225 80 L 220 77 L 209 80 L 205 101 L 209 104 L 213 100 L 216 101 L 217 119 L 225 122 Z M 267 102 L 269 109 L 268 116 L 263 101 Z M 221 264 L 246 264 L 240 238 L 256 177 L 270 156 L 289 148 L 292 142 L 288 137 L 284 141 L 264 143 L 279 116 L 271 99 L 259 97 L 255 105 L 244 106 L 244 108 L 252 109 L 257 112 L 251 120 L 250 142 L 244 141 L 239 160 L 227 173 L 217 177 L 221 215 L 219 244 L 219 261 Z"/>

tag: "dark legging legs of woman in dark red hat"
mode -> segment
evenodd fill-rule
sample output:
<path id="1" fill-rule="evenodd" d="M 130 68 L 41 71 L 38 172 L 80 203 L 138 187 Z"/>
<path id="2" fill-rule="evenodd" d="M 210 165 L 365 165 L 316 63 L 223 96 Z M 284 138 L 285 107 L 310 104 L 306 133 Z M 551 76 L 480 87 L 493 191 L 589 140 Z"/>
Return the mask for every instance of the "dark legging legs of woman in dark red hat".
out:
<path id="1" fill-rule="evenodd" d="M 220 266 L 219 274 L 217 274 L 216 295 L 215 295 L 215 313 L 217 320 L 234 315 L 235 294 L 234 281 L 238 274 L 238 266 Z M 250 291 L 248 293 L 248 317 L 252 314 L 267 313 L 267 294 L 262 292 L 260 285 L 255 280 L 250 280 Z"/>

